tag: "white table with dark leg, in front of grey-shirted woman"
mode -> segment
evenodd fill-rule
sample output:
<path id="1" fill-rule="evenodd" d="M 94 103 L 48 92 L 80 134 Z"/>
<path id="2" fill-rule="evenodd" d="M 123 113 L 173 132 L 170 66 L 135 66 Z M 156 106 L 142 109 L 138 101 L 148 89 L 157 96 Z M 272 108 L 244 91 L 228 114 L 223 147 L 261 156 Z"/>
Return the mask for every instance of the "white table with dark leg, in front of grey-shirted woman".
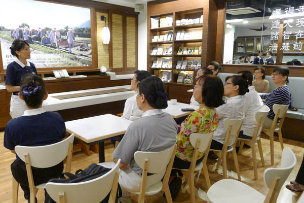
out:
<path id="1" fill-rule="evenodd" d="M 124 134 L 132 121 L 104 114 L 65 122 L 66 131 L 87 144 L 98 143 L 99 162 L 104 162 L 104 141 Z"/>

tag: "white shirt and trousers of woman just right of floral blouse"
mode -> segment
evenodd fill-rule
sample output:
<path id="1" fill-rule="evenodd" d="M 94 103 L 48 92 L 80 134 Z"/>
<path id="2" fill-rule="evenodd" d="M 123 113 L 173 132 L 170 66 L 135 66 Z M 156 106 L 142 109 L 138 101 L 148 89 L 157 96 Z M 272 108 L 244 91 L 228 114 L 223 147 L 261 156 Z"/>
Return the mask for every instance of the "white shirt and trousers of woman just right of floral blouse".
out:
<path id="1" fill-rule="evenodd" d="M 226 129 L 224 128 L 224 119 L 240 119 L 244 116 L 244 96 L 238 95 L 227 98 L 226 104 L 217 107 L 218 111 L 218 126 L 213 134 L 213 140 L 224 144 L 226 137 Z M 235 136 L 230 136 L 228 146 L 232 146 L 236 140 Z"/>

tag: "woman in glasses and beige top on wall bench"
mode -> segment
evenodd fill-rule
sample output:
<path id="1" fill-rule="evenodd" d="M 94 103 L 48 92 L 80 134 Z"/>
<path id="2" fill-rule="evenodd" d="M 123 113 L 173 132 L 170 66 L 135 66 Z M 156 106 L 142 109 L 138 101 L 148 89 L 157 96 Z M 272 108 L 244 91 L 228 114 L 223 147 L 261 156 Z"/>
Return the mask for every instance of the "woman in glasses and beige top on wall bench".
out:
<path id="1" fill-rule="evenodd" d="M 269 82 L 265 80 L 265 69 L 262 66 L 257 66 L 254 69 L 254 78 L 255 80 L 252 82 L 252 86 L 255 87 L 255 90 L 258 93 L 268 93 L 269 91 Z"/>

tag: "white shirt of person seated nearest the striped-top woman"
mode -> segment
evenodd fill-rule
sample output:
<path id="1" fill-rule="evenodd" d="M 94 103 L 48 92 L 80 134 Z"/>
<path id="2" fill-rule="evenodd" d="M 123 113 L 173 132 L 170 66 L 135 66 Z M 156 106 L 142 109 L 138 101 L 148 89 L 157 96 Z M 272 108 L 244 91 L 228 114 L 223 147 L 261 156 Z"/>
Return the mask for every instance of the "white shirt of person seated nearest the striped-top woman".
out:
<path id="1" fill-rule="evenodd" d="M 244 95 L 244 113 L 245 118 L 241 130 L 246 136 L 253 136 L 256 127 L 255 113 L 263 107 L 263 101 L 254 86 L 248 87 L 249 92 Z"/>

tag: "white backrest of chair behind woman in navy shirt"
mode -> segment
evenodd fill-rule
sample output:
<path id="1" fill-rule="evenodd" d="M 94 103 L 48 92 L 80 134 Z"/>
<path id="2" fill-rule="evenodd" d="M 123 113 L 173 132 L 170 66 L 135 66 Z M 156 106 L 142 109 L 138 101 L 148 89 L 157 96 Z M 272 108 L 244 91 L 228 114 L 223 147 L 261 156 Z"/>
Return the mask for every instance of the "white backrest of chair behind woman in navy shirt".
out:
<path id="1" fill-rule="evenodd" d="M 57 165 L 68 154 L 69 144 L 73 143 L 74 134 L 71 134 L 67 139 L 52 145 L 26 147 L 17 145 L 15 147 L 16 154 L 25 162 L 25 154 L 29 154 L 31 166 L 37 168 L 47 168 Z"/>

